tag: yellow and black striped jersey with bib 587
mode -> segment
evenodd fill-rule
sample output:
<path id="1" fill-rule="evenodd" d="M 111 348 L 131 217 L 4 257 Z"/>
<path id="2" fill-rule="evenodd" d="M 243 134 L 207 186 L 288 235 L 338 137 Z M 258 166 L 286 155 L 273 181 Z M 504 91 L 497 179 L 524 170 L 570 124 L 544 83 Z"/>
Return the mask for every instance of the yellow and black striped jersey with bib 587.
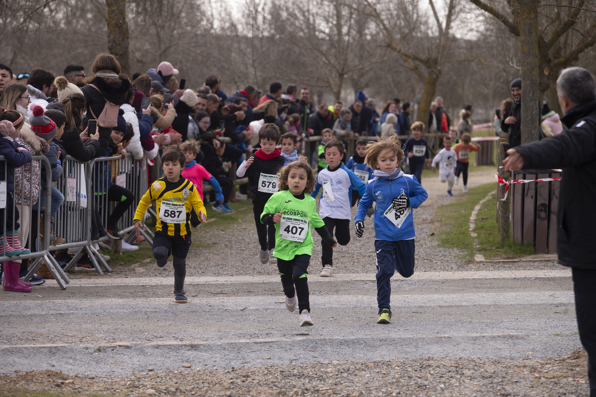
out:
<path id="1" fill-rule="evenodd" d="M 157 204 L 156 229 L 167 231 L 169 236 L 190 234 L 189 220 L 193 208 L 197 215 L 199 212 L 207 215 L 193 182 L 183 177 L 178 182 L 170 182 L 166 177 L 153 182 L 136 207 L 135 222 L 142 220 L 153 200 Z"/>

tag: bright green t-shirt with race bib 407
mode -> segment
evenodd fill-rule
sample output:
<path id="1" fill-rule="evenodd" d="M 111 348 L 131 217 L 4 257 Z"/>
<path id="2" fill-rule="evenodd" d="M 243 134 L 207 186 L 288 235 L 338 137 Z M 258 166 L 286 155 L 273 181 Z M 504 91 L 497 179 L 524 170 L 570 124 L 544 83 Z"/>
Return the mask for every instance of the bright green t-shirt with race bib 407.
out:
<path id="1" fill-rule="evenodd" d="M 296 255 L 312 255 L 311 224 L 315 228 L 325 225 L 316 213 L 315 199 L 307 194 L 298 199 L 290 190 L 281 190 L 269 198 L 260 217 L 281 211 L 281 221 L 275 224 L 275 257 L 289 261 Z"/>

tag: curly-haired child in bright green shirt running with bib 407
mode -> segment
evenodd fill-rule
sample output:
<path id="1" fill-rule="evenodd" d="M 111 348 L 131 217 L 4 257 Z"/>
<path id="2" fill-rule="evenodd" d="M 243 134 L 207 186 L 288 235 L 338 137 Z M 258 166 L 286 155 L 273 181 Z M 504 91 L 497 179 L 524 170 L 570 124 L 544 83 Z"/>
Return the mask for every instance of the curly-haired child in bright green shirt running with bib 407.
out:
<path id="1" fill-rule="evenodd" d="M 309 195 L 315 188 L 315 175 L 308 159 L 300 157 L 300 161 L 290 162 L 277 175 L 280 191 L 265 204 L 261 221 L 275 226 L 274 255 L 284 288 L 285 308 L 294 311 L 297 304 L 300 327 L 312 326 L 307 282 L 313 248 L 311 224 L 328 245 L 335 248 L 337 242 L 316 213 L 315 199 Z"/>

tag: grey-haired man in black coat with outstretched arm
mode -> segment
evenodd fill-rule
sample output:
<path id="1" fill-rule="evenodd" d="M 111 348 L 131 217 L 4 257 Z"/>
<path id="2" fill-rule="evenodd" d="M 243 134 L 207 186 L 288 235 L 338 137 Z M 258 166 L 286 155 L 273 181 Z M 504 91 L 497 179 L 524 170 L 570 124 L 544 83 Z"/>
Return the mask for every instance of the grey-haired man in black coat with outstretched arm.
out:
<path id="1" fill-rule="evenodd" d="M 596 90 L 594 76 L 580 67 L 561 71 L 557 95 L 564 117 L 558 135 L 507 151 L 503 164 L 563 168 L 557 210 L 557 253 L 572 268 L 579 339 L 588 352 L 590 395 L 596 396 Z"/>

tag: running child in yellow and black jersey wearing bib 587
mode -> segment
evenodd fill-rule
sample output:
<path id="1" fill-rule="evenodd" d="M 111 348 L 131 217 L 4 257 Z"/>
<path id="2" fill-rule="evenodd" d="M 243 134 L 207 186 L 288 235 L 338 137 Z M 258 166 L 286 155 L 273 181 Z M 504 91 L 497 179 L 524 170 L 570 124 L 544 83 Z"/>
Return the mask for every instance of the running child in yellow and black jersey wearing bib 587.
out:
<path id="1" fill-rule="evenodd" d="M 166 176 L 151 184 L 135 212 L 136 236 L 141 236 L 141 220 L 153 200 L 157 204 L 157 226 L 153 239 L 153 257 L 159 267 L 164 267 L 173 254 L 174 296 L 176 303 L 188 302 L 184 292 L 186 257 L 191 243 L 190 213 L 194 210 L 201 222 L 207 220 L 203 201 L 193 182 L 181 176 L 184 152 L 167 148 L 162 155 L 162 168 Z"/>

